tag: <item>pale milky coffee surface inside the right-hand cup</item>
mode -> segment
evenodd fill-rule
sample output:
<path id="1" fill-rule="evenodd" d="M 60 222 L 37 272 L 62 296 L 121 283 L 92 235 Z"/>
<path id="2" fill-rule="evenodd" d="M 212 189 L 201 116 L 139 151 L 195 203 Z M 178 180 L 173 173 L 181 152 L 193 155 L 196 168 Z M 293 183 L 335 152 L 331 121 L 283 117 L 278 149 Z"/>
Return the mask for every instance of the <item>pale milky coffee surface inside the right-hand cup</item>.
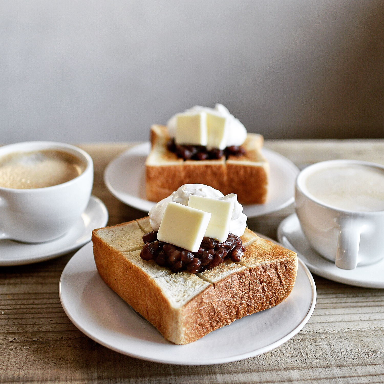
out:
<path id="1" fill-rule="evenodd" d="M 328 167 L 305 180 L 310 195 L 336 209 L 359 212 L 384 210 L 384 170 L 348 164 Z"/>

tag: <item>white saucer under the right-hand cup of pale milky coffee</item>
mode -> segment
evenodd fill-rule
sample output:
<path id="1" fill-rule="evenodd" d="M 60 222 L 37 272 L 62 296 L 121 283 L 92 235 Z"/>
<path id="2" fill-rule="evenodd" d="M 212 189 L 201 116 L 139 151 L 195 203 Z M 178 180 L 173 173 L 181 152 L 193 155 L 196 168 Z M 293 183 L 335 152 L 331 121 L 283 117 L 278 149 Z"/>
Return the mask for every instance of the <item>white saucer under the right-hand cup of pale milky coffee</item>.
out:
<path id="1" fill-rule="evenodd" d="M 296 214 L 286 217 L 279 225 L 277 237 L 284 247 L 296 252 L 311 272 L 338 283 L 366 288 L 384 288 L 384 260 L 353 270 L 340 269 L 321 257 L 310 245 L 300 227 Z"/>

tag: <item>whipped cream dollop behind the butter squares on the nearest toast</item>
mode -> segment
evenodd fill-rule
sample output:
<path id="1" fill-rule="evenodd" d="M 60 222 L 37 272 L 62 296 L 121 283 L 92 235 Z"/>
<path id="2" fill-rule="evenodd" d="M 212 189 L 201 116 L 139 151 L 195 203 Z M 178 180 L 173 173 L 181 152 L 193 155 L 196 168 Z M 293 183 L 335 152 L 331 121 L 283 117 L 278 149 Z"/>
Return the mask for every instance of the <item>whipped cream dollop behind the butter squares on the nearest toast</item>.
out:
<path id="1" fill-rule="evenodd" d="M 151 224 L 152 230 L 159 230 L 164 211 L 170 201 L 188 205 L 189 195 L 210 197 L 211 199 L 233 202 L 234 208 L 229 232 L 239 237 L 243 235 L 245 228 L 247 227 L 247 216 L 243 214 L 243 206 L 237 201 L 237 195 L 231 193 L 224 196 L 217 189 L 204 184 L 184 184 L 176 192 L 172 192 L 171 195 L 154 205 L 149 211 L 149 223 Z"/>

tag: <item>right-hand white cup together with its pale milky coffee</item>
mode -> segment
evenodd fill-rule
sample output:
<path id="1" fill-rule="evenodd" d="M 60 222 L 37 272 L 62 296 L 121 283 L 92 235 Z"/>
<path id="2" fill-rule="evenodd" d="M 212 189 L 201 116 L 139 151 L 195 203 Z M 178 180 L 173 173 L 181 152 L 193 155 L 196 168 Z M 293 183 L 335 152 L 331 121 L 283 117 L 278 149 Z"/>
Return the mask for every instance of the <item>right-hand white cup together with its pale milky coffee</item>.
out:
<path id="1" fill-rule="evenodd" d="M 382 192 L 384 166 L 381 164 L 331 160 L 303 169 L 296 179 L 295 208 L 303 233 L 314 250 L 342 269 L 381 260 L 384 257 Z"/>

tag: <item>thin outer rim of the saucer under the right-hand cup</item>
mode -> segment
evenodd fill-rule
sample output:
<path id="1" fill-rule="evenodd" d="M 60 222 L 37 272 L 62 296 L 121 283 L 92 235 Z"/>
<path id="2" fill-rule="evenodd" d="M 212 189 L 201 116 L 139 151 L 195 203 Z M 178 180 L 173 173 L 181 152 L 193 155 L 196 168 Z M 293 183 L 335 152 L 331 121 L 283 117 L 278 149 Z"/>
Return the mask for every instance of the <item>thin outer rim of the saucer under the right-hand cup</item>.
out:
<path id="1" fill-rule="evenodd" d="M 296 213 L 290 214 L 284 220 L 282 220 L 281 223 L 279 224 L 279 226 L 277 228 L 277 237 L 278 237 L 278 240 L 279 240 L 280 243 L 283 243 L 283 236 L 286 237 L 286 235 L 283 233 L 283 229 L 282 229 L 283 226 L 286 224 L 286 222 L 291 220 L 294 216 L 297 217 Z M 298 217 L 297 217 L 297 220 L 299 220 Z M 299 221 L 299 223 L 300 223 L 300 221 Z M 302 256 L 304 260 L 306 260 L 305 255 L 303 255 L 301 252 L 299 252 L 296 249 L 296 247 L 289 241 L 288 238 L 287 238 L 287 242 L 291 245 L 291 247 L 289 247 L 289 248 L 292 251 L 296 252 L 298 255 Z M 283 247 L 288 248 L 286 245 L 283 245 Z M 314 252 L 316 252 L 316 251 L 314 251 Z M 321 258 L 322 261 L 324 260 L 325 262 L 328 262 L 330 265 L 334 265 L 334 263 L 331 263 L 330 261 L 328 261 L 325 258 L 321 257 L 320 255 L 318 255 L 318 257 Z M 358 286 L 358 287 L 361 287 L 361 288 L 384 289 L 384 280 L 383 280 L 383 282 L 381 284 L 380 283 L 372 283 L 372 282 L 367 281 L 367 280 L 354 280 L 353 278 L 346 278 L 346 277 L 343 277 L 343 276 L 334 275 L 333 273 L 324 271 L 323 269 L 321 269 L 318 266 L 313 265 L 311 263 L 305 263 L 305 262 L 303 262 L 303 263 L 315 275 L 318 275 L 318 276 L 323 277 L 323 278 L 328 279 L 328 280 L 336 281 L 336 283 L 352 285 L 352 286 Z M 372 264 L 371 266 L 374 266 L 376 264 L 377 263 Z M 369 266 L 369 265 L 367 265 L 367 266 Z M 337 268 L 337 267 L 335 266 L 335 268 Z"/>

